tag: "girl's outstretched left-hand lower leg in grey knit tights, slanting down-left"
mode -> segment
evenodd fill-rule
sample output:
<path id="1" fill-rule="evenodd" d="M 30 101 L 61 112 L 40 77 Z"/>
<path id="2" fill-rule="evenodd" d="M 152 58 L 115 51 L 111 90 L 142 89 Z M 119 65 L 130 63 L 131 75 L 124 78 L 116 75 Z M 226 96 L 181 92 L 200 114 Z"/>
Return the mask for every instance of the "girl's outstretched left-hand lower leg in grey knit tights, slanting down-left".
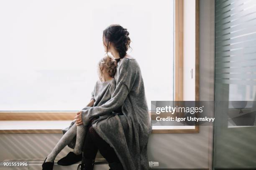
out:
<path id="1" fill-rule="evenodd" d="M 56 156 L 60 153 L 60 151 L 65 148 L 66 145 L 68 145 L 74 136 L 77 133 L 77 125 L 74 124 L 59 140 L 59 142 L 56 144 L 54 149 L 51 151 L 51 153 L 47 156 L 47 159 L 45 162 L 54 162 Z"/>

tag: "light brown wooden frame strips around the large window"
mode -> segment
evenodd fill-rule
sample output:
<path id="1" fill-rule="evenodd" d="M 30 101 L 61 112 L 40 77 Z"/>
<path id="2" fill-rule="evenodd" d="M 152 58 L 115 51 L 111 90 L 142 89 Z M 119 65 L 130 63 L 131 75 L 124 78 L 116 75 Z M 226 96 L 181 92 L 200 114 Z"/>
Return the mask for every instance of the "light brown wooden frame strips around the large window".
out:
<path id="1" fill-rule="evenodd" d="M 184 0 L 175 0 L 174 100 L 183 101 L 183 9 Z M 199 100 L 199 0 L 195 0 L 195 100 Z M 2 120 L 74 120 L 77 112 L 64 111 L 0 111 Z M 151 115 L 151 113 L 149 113 Z M 0 130 L 6 133 L 62 133 L 61 130 Z M 152 133 L 199 133 L 195 129 L 152 130 Z"/>

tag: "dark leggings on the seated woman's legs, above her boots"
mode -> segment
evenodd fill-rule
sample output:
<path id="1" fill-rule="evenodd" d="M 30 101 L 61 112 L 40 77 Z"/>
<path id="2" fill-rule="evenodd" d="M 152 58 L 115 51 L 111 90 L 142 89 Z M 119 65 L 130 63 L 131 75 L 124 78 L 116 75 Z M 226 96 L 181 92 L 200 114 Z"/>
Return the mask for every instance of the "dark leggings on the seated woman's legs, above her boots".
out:
<path id="1" fill-rule="evenodd" d="M 97 151 L 100 151 L 100 154 L 108 161 L 108 163 L 119 163 L 120 160 L 115 153 L 115 150 L 110 147 L 110 145 L 103 140 L 96 131 L 92 128 L 92 121 L 97 118 L 91 120 L 88 125 L 88 131 L 84 140 L 84 158 L 87 159 L 95 159 Z"/>

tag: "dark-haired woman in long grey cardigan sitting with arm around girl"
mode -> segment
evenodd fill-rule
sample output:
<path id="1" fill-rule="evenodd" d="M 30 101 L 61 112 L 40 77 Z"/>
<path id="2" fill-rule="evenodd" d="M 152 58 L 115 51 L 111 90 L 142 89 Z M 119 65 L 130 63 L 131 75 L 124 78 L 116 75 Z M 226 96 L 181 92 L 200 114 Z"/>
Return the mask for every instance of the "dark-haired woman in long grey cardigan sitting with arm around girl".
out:
<path id="1" fill-rule="evenodd" d="M 76 121 L 77 125 L 90 125 L 93 118 L 121 107 L 119 114 L 113 113 L 105 120 L 92 122 L 87 134 L 91 143 L 85 142 L 84 148 L 94 145 L 93 148 L 98 148 L 107 161 L 114 161 L 108 161 L 111 170 L 147 170 L 147 143 L 152 129 L 151 120 L 140 67 L 133 57 L 126 54 L 131 42 L 128 35 L 129 32 L 120 25 L 110 25 L 103 31 L 105 52 L 110 52 L 118 62 L 114 76 L 116 88 L 111 99 L 103 105 L 79 111 Z M 87 152 L 84 149 L 85 155 Z M 90 159 L 82 159 L 82 169 L 89 170 L 90 165 L 93 165 Z"/>

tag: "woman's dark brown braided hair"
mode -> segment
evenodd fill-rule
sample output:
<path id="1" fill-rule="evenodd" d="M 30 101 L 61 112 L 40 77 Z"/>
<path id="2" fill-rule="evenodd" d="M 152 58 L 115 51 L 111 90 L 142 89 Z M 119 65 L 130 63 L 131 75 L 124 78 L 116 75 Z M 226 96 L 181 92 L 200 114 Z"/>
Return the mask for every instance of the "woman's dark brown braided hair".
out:
<path id="1" fill-rule="evenodd" d="M 103 37 L 105 37 L 107 44 L 107 53 L 109 42 L 112 42 L 115 49 L 118 51 L 120 58 L 126 55 L 126 52 L 130 47 L 131 39 L 129 32 L 126 28 L 118 24 L 110 25 L 103 31 Z M 120 59 L 119 59 L 120 60 Z M 117 60 L 117 61 L 119 61 Z"/>

